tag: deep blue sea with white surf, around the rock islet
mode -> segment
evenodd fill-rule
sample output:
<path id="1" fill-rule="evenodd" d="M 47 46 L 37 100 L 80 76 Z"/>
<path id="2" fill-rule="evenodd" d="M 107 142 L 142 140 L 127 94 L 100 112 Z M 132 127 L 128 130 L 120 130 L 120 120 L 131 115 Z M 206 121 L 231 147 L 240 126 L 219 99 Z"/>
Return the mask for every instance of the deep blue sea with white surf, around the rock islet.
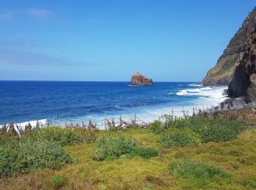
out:
<path id="1" fill-rule="evenodd" d="M 76 121 L 136 113 L 152 120 L 172 108 L 222 101 L 224 88 L 195 83 L 0 81 L 0 124 L 34 121 Z"/>

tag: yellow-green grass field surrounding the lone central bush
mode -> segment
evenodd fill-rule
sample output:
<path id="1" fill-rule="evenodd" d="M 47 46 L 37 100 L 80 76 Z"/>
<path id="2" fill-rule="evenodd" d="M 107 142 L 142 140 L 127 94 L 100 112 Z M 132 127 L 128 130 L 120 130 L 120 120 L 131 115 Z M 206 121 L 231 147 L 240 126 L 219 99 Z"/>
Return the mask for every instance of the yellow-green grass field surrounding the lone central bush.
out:
<path id="1" fill-rule="evenodd" d="M 165 132 L 164 132 L 165 133 Z M 92 150 L 102 136 L 123 135 L 158 156 L 120 156 L 97 161 Z M 236 140 L 164 148 L 150 129 L 99 131 L 96 141 L 65 145 L 76 159 L 60 169 L 37 169 L 0 180 L 0 189 L 256 189 L 256 129 Z"/>

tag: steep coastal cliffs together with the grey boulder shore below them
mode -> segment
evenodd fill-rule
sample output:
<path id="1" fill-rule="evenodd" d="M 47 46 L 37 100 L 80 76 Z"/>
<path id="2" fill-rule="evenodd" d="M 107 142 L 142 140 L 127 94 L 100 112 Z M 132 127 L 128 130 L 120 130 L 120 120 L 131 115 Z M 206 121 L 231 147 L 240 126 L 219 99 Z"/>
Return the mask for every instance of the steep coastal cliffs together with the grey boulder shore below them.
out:
<path id="1" fill-rule="evenodd" d="M 238 58 L 233 59 L 233 62 L 228 61 L 231 67 L 227 67 L 228 63 L 224 64 L 223 60 L 227 61 L 234 55 Z M 222 71 L 222 74 L 219 71 Z M 203 80 L 204 85 L 217 86 L 224 83 L 228 84 L 225 93 L 230 99 L 226 99 L 217 107 L 203 110 L 202 115 L 219 117 L 222 113 L 221 115 L 231 114 L 238 117 L 240 113 L 254 115 L 256 120 L 256 7 L 230 40 L 217 66 L 211 69 Z"/>

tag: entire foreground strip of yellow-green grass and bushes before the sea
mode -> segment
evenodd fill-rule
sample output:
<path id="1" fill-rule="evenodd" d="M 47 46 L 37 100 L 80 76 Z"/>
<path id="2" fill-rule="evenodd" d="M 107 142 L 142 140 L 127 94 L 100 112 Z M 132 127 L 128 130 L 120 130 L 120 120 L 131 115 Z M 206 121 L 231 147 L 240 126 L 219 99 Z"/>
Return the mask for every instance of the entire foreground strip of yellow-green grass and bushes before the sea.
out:
<path id="1" fill-rule="evenodd" d="M 46 128 L 0 143 L 0 189 L 256 189 L 256 129 L 233 121 L 165 115 L 148 129 Z"/>

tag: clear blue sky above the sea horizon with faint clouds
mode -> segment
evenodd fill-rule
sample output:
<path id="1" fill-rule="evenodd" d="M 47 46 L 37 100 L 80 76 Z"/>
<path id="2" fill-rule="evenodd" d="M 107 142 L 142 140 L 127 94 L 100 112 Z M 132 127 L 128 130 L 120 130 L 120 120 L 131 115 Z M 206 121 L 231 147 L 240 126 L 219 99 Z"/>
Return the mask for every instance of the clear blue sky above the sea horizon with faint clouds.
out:
<path id="1" fill-rule="evenodd" d="M 255 1 L 0 1 L 0 80 L 200 81 Z"/>

